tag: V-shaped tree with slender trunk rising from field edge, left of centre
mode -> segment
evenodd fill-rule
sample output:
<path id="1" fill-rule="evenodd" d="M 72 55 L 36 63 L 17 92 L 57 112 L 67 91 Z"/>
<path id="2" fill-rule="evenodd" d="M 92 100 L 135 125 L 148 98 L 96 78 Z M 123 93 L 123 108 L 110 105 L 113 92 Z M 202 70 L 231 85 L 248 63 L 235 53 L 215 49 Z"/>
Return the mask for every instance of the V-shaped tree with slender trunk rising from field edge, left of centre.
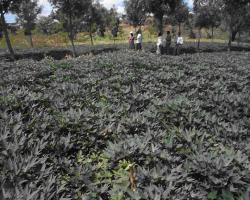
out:
<path id="1" fill-rule="evenodd" d="M 63 23 L 64 29 L 68 32 L 68 37 L 73 48 L 73 55 L 76 56 L 74 39 L 80 30 L 81 17 L 92 5 L 91 0 L 50 0 L 57 9 L 57 16 Z"/>

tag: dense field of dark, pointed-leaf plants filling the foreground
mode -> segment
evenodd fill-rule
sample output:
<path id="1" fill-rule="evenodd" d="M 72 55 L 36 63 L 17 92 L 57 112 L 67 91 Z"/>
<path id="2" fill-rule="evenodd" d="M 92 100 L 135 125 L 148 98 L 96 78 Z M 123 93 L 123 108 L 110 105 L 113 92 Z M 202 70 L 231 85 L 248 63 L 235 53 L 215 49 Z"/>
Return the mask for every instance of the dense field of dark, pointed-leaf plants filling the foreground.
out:
<path id="1" fill-rule="evenodd" d="M 0 61 L 0 199 L 249 199 L 250 53 L 148 49 Z"/>

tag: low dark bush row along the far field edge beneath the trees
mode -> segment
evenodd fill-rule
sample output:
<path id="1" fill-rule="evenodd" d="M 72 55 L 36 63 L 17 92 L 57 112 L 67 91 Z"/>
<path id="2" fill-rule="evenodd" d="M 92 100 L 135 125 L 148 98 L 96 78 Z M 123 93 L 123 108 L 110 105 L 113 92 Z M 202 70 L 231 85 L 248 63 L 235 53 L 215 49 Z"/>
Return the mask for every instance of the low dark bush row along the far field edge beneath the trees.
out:
<path id="1" fill-rule="evenodd" d="M 172 44 L 170 54 L 174 54 L 174 44 Z M 78 56 L 81 55 L 98 55 L 107 52 L 115 52 L 119 50 L 127 49 L 127 44 L 113 44 L 113 45 L 79 45 L 76 46 Z M 149 53 L 156 52 L 156 44 L 149 42 L 143 44 L 143 50 Z M 227 45 L 222 43 L 201 43 L 200 49 L 197 49 L 197 44 L 187 42 L 184 44 L 181 50 L 181 54 L 194 54 L 198 52 L 224 52 L 227 51 Z M 232 51 L 250 51 L 249 46 L 233 46 Z M 40 61 L 45 57 L 52 57 L 55 60 L 62 60 L 65 57 L 72 56 L 71 47 L 44 47 L 44 48 L 33 48 L 33 49 L 16 49 L 16 59 L 33 59 Z M 10 55 L 6 49 L 0 49 L 0 59 L 11 60 Z"/>

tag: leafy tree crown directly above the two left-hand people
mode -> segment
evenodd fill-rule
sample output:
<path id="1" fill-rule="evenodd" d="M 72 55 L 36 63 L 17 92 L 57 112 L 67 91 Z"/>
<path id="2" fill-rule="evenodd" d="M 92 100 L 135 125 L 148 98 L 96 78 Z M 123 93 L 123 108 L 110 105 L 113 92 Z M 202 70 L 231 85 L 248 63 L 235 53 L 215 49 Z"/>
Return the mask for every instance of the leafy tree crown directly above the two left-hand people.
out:
<path id="1" fill-rule="evenodd" d="M 141 26 L 146 20 L 146 7 L 143 0 L 125 0 L 127 20 L 135 29 Z"/>

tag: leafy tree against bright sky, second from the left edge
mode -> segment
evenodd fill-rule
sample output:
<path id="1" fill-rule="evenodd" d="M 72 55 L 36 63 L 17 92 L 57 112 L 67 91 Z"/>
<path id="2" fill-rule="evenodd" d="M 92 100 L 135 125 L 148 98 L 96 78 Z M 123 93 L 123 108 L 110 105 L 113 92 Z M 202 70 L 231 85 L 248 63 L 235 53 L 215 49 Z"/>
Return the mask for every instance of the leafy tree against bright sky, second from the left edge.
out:
<path id="1" fill-rule="evenodd" d="M 22 3 L 16 11 L 18 21 L 24 28 L 24 34 L 28 36 L 31 47 L 34 46 L 32 30 L 36 27 L 36 19 L 41 11 L 42 7 L 38 6 L 38 0 L 22 0 Z"/>

